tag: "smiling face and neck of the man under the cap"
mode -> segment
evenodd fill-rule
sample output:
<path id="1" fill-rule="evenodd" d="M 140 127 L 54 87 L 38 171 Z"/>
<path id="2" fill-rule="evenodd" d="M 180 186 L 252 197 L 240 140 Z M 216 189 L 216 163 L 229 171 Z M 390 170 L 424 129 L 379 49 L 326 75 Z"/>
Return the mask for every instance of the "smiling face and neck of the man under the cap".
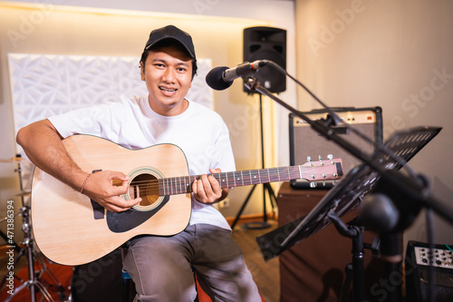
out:
<path id="1" fill-rule="evenodd" d="M 180 47 L 166 45 L 149 51 L 141 80 L 149 92 L 149 105 L 161 115 L 178 115 L 187 108 L 184 98 L 192 82 L 192 60 Z"/>

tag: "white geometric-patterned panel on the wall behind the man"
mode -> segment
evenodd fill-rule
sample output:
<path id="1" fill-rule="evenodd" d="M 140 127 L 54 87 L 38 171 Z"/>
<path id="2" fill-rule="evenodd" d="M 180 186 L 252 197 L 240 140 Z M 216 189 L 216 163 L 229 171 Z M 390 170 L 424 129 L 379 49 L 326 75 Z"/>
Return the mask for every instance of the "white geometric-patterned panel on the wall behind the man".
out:
<path id="1" fill-rule="evenodd" d="M 148 94 L 140 80 L 140 58 L 53 54 L 8 54 L 14 133 L 31 122 L 74 109 L 115 102 L 121 95 Z M 205 83 L 210 59 L 198 59 L 188 99 L 208 108 L 214 97 Z M 17 145 L 17 152 L 24 151 Z M 30 187 L 33 164 L 24 162 L 24 189 Z"/>

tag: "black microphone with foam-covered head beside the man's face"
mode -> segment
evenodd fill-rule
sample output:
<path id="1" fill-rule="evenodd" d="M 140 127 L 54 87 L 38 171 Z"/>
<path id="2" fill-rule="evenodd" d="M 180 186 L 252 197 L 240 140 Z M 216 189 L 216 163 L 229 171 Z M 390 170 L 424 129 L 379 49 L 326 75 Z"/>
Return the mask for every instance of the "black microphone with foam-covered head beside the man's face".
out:
<path id="1" fill-rule="evenodd" d="M 220 66 L 213 68 L 206 75 L 206 83 L 215 90 L 224 90 L 231 86 L 233 81 L 238 77 L 255 73 L 258 69 L 265 66 L 267 60 L 256 60 L 253 63 L 242 63 L 234 68 Z"/>

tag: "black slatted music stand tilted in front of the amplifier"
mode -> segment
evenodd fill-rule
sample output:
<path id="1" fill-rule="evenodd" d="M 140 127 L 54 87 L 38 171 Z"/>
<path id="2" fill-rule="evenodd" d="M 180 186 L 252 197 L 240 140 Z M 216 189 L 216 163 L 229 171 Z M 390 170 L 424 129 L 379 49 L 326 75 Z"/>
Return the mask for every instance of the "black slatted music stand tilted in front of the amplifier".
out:
<path id="1" fill-rule="evenodd" d="M 439 127 L 418 127 L 407 131 L 396 132 L 385 142 L 384 147 L 398 155 L 400 159 L 391 157 L 387 152 L 376 151 L 371 161 L 379 164 L 385 170 L 400 170 L 405 162 L 410 161 L 440 130 L 441 128 Z M 335 224 L 337 229 L 341 229 L 341 226 L 338 225 L 341 222 L 339 218 L 352 209 L 357 208 L 365 195 L 371 193 L 377 187 L 378 180 L 381 179 L 381 176 L 381 173 L 371 169 L 368 164 L 363 163 L 358 165 L 347 173 L 332 190 L 329 190 L 323 197 L 323 200 L 306 216 L 256 238 L 265 261 L 275 258 L 287 248 L 293 247 L 318 230 L 325 228 L 331 222 Z M 410 216 L 416 216 L 419 211 L 419 207 L 416 205 L 413 206 L 413 209 L 405 209 L 409 210 Z M 403 221 L 400 223 L 407 222 Z M 355 268 L 354 264 L 356 264 Z M 354 300 L 361 301 L 363 297 L 361 283 L 363 281 L 363 265 L 353 261 L 352 266 L 355 276 L 354 281 L 357 280 L 360 283 L 359 285 L 353 283 Z M 357 269 L 357 267 L 359 268 Z"/>

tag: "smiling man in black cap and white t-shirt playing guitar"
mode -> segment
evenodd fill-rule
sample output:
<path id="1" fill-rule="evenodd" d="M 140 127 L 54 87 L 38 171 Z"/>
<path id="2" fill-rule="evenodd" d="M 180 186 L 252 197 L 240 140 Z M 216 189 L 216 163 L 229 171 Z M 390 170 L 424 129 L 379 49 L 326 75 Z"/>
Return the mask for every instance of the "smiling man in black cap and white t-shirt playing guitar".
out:
<path id="1" fill-rule="evenodd" d="M 186 154 L 189 173 L 202 175 L 192 184 L 192 216 L 177 235 L 140 236 L 125 244 L 123 267 L 136 285 L 136 299 L 193 301 L 195 271 L 215 301 L 261 301 L 226 219 L 211 206 L 228 190 L 207 172 L 236 167 L 225 122 L 216 112 L 185 99 L 196 71 L 190 35 L 173 25 L 156 29 L 149 34 L 140 60 L 149 95 L 34 122 L 17 133 L 17 142 L 36 166 L 113 212 L 140 203 L 140 197 L 120 197 L 128 190 L 128 177 L 120 171 L 81 170 L 61 140 L 84 133 L 130 149 L 178 145 Z M 112 186 L 112 180 L 121 180 L 122 185 Z"/>

